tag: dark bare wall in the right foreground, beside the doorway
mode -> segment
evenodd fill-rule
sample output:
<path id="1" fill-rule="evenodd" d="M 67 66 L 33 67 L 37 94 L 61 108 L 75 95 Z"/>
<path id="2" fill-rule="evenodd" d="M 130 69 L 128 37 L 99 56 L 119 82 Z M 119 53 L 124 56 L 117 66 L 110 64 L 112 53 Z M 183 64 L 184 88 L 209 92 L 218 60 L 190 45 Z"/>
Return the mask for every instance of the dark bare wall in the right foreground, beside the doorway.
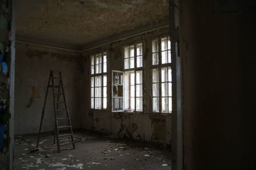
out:
<path id="1" fill-rule="evenodd" d="M 180 1 L 184 169 L 256 169 L 255 3 Z"/>

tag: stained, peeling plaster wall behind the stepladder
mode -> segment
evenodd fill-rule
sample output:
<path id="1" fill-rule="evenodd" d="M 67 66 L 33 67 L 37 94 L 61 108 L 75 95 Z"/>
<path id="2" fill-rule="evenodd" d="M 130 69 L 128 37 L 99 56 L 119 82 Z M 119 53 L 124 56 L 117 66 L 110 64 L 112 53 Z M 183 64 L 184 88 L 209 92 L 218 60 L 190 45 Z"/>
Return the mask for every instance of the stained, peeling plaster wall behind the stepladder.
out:
<path id="1" fill-rule="evenodd" d="M 38 132 L 49 70 L 62 71 L 72 127 L 80 127 L 80 53 L 17 43 L 15 67 L 15 134 Z M 54 130 L 52 89 L 49 89 L 42 132 Z"/>

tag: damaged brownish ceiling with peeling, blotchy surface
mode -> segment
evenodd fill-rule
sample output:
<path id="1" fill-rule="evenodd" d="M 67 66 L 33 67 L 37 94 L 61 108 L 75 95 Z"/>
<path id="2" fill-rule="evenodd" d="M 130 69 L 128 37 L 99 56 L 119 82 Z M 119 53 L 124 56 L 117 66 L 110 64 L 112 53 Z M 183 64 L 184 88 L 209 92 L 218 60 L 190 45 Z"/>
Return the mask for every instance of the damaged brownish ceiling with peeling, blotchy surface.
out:
<path id="1" fill-rule="evenodd" d="M 20 41 L 83 48 L 166 20 L 168 0 L 22 0 L 16 35 Z"/>

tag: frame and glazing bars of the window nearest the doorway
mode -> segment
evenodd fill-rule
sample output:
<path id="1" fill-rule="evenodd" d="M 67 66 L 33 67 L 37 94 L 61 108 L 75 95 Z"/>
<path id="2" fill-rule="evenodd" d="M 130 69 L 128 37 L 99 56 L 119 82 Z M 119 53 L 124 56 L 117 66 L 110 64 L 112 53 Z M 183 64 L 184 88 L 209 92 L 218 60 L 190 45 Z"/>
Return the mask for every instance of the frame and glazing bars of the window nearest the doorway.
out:
<path id="1" fill-rule="evenodd" d="M 171 68 L 171 80 L 172 80 L 172 74 L 173 74 L 173 62 L 172 62 L 172 55 L 170 56 L 171 58 L 171 62 L 168 63 L 168 45 L 167 45 L 167 50 L 164 50 L 167 52 L 167 63 L 164 63 L 162 64 L 162 46 L 161 46 L 161 39 L 162 38 L 167 38 L 167 42 L 168 42 L 168 38 L 170 38 L 170 35 L 168 34 L 162 34 L 161 36 L 155 36 L 154 38 L 150 39 L 150 75 L 151 75 L 151 78 L 150 78 L 150 94 L 151 94 L 151 99 L 150 99 L 150 103 L 152 104 L 152 106 L 150 107 L 150 112 L 151 113 L 154 113 L 154 114 L 161 114 L 161 115 L 170 115 L 172 114 L 173 110 L 171 112 L 169 112 L 169 109 L 167 112 L 163 112 L 162 111 L 162 99 L 164 97 L 166 97 L 168 99 L 168 107 L 169 107 L 169 97 L 171 97 L 171 99 L 173 100 L 173 92 L 172 92 L 172 96 L 162 96 L 162 83 L 165 83 L 163 82 L 161 79 L 162 79 L 162 76 L 161 76 L 161 71 L 162 71 L 162 68 L 166 67 L 167 68 L 167 73 L 168 73 L 168 67 Z M 158 40 L 158 52 L 153 52 L 153 47 L 152 47 L 152 43 L 154 40 Z M 172 44 L 172 41 L 170 40 L 170 43 Z M 170 44 L 170 46 L 171 46 Z M 170 53 L 172 52 L 172 48 L 170 48 Z M 154 64 L 153 65 L 153 53 L 158 53 L 158 64 Z M 159 98 L 159 111 L 154 111 L 153 110 L 153 69 L 157 69 L 158 70 L 158 86 L 159 86 L 159 90 L 158 90 L 158 98 Z M 168 73 L 169 74 L 169 73 Z M 167 81 L 167 83 L 171 83 L 171 88 L 173 87 L 173 81 Z M 169 85 L 168 85 L 168 88 L 169 88 Z M 173 90 L 172 90 L 173 91 Z M 167 92 L 168 93 L 168 92 Z M 171 100 L 171 103 L 172 103 L 172 100 Z M 173 107 L 173 106 L 172 106 Z"/>

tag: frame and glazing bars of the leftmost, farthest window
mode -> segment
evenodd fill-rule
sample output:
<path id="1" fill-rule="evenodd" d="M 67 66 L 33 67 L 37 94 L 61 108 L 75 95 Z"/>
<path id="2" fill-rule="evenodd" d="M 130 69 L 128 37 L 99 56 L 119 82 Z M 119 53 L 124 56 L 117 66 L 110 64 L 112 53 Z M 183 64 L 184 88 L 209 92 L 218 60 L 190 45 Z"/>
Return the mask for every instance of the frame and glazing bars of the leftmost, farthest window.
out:
<path id="1" fill-rule="evenodd" d="M 106 62 L 104 62 L 104 54 L 106 53 Z M 96 64 L 96 55 L 101 55 L 101 73 L 96 73 L 96 65 L 99 65 L 99 64 Z M 93 65 L 92 65 L 92 57 L 93 57 Z M 104 71 L 104 63 L 106 63 L 106 72 L 103 73 Z M 109 99 L 108 99 L 108 68 L 109 68 L 109 53 L 107 50 L 102 50 L 101 52 L 95 52 L 95 53 L 92 53 L 90 55 L 90 110 L 108 110 L 108 103 L 109 103 Z M 92 74 L 92 66 L 93 66 L 93 74 Z M 100 76 L 100 79 L 101 79 L 101 82 L 100 82 L 100 97 L 96 97 L 95 94 L 96 94 L 96 86 L 95 86 L 95 81 L 96 81 L 96 77 L 97 76 Z M 104 85 L 104 76 L 106 76 L 107 78 L 107 81 L 106 81 L 106 85 Z M 93 86 L 92 86 L 92 78 L 94 79 L 93 81 Z M 93 90 L 93 97 L 92 97 L 92 88 L 94 89 Z M 106 88 L 106 97 L 104 97 L 104 88 Z M 100 108 L 95 108 L 96 104 L 95 104 L 95 99 L 96 98 L 100 98 L 101 102 L 100 102 Z M 104 98 L 106 98 L 106 108 L 104 108 Z M 92 108 L 92 99 L 93 99 L 93 108 Z"/>

